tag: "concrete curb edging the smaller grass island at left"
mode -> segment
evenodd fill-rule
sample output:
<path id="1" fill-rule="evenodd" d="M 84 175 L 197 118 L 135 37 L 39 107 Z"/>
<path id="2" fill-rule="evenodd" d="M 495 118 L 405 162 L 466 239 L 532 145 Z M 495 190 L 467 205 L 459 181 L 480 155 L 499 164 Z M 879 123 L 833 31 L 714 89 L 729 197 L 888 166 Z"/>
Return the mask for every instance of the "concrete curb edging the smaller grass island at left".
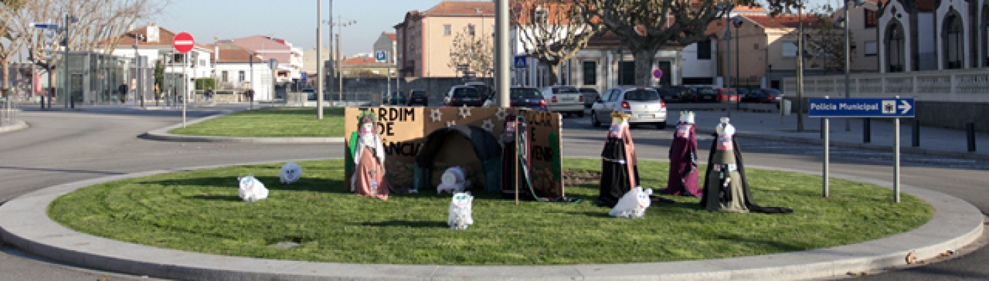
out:
<path id="1" fill-rule="evenodd" d="M 187 121 L 186 125 L 191 125 L 199 122 L 203 122 L 209 119 L 224 116 L 226 114 L 233 112 L 225 112 L 216 115 L 211 115 L 203 118 L 198 118 L 192 121 Z M 269 143 L 269 144 L 279 144 L 279 143 L 343 143 L 343 137 L 267 137 L 267 138 L 256 138 L 256 137 L 221 137 L 221 136 L 199 136 L 199 135 L 176 135 L 170 134 L 168 131 L 181 127 L 182 124 L 175 124 L 167 126 L 160 129 L 154 129 L 147 131 L 143 137 L 150 140 L 160 140 L 160 141 L 182 141 L 182 142 L 228 142 L 228 143 Z"/>

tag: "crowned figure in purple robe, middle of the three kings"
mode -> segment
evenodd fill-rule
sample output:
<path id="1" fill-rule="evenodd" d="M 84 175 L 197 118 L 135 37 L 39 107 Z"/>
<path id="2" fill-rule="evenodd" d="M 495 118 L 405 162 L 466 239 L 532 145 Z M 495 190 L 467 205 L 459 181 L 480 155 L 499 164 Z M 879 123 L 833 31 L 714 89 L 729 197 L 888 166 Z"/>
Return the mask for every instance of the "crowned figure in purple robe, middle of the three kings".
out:
<path id="1" fill-rule="evenodd" d="M 662 194 L 701 196 L 697 180 L 697 137 L 694 132 L 693 111 L 680 111 L 676 122 L 674 143 L 670 146 L 670 176 Z"/>

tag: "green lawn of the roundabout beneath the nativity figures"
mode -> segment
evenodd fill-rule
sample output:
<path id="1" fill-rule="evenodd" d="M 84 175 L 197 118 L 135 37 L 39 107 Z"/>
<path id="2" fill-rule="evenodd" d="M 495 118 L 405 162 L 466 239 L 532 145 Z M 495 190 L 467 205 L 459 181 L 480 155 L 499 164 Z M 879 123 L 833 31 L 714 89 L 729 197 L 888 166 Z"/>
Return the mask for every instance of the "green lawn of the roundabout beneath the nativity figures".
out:
<path id="1" fill-rule="evenodd" d="M 214 254 L 330 262 L 396 264 L 583 264 L 747 256 L 841 246 L 915 229 L 934 215 L 926 202 L 872 184 L 750 170 L 757 202 L 789 215 L 732 214 L 700 208 L 696 198 L 656 203 L 645 220 L 617 219 L 594 206 L 599 160 L 567 159 L 573 203 L 522 202 L 476 192 L 475 225 L 446 225 L 449 195 L 435 189 L 381 201 L 350 194 L 341 160 L 302 162 L 296 184 L 278 183 L 282 163 L 131 178 L 65 194 L 48 206 L 60 224 L 135 244 Z M 665 185 L 667 164 L 642 161 L 646 187 Z M 271 189 L 245 203 L 236 176 L 253 174 Z M 579 178 L 572 182 L 581 182 Z M 281 249 L 269 245 L 291 241 Z"/>

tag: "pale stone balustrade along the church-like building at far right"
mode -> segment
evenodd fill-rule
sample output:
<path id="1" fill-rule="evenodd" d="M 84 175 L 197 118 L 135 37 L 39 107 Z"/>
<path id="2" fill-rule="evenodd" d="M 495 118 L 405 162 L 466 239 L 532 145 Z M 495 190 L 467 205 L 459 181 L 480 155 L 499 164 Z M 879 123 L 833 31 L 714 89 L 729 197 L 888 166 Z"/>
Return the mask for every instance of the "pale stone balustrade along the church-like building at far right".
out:
<path id="1" fill-rule="evenodd" d="M 989 103 L 989 69 L 908 73 L 855 73 L 851 98 L 913 98 L 928 102 Z M 804 77 L 805 98 L 845 98 L 845 75 Z M 794 97 L 796 78 L 783 79 L 783 93 Z"/>

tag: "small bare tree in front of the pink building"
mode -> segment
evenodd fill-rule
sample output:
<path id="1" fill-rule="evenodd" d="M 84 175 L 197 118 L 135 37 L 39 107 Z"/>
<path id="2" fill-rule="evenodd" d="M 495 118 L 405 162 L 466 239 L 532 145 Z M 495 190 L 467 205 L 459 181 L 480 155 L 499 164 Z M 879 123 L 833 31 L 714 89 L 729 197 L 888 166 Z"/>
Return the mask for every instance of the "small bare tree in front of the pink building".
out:
<path id="1" fill-rule="evenodd" d="M 487 35 L 475 35 L 471 27 L 453 37 L 450 47 L 450 61 L 446 66 L 460 70 L 466 65 L 468 71 L 490 76 L 494 72 L 494 43 Z"/>

